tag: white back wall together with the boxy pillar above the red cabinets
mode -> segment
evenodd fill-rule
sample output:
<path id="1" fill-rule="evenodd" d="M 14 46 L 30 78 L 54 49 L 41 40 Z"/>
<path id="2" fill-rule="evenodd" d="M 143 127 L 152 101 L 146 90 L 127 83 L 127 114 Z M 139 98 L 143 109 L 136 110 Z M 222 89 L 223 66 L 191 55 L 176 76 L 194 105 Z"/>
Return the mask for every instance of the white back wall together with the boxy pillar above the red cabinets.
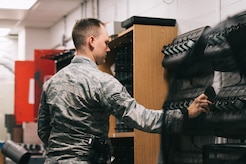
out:
<path id="1" fill-rule="evenodd" d="M 23 29 L 18 51 L 13 55 L 18 53 L 18 60 L 32 60 L 34 49 L 73 48 L 71 31 L 80 18 L 95 17 L 103 22 L 121 22 L 133 15 L 174 18 L 181 34 L 201 26 L 214 26 L 245 10 L 245 6 L 246 0 L 87 0 L 50 29 Z M 63 35 L 68 41 L 65 45 Z"/>

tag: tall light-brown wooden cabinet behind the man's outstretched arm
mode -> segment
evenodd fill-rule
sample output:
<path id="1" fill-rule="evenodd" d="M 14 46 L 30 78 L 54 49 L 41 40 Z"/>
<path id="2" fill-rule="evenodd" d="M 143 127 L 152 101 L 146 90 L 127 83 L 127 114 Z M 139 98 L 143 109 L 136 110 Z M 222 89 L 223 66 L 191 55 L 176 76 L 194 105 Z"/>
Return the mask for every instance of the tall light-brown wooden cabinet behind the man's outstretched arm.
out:
<path id="1" fill-rule="evenodd" d="M 161 50 L 163 45 L 169 44 L 176 35 L 177 28 L 174 26 L 133 25 L 112 38 L 109 43 L 111 52 L 100 69 L 114 74 L 111 68 L 115 63 L 117 48 L 131 44 L 133 97 L 146 108 L 161 109 L 168 91 Z M 157 163 L 160 134 L 135 129 L 133 132 L 116 132 L 115 128 L 116 119 L 112 116 L 109 137 L 134 138 L 134 164 Z"/>

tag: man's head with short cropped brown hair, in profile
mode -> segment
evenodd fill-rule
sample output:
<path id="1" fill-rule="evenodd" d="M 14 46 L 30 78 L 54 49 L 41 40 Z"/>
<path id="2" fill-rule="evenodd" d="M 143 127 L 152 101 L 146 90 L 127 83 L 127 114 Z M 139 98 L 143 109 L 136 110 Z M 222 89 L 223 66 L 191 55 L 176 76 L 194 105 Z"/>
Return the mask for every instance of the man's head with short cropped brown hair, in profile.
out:
<path id="1" fill-rule="evenodd" d="M 109 37 L 104 23 L 94 18 L 78 20 L 72 31 L 74 46 L 79 55 L 85 55 L 96 64 L 105 62 Z"/>

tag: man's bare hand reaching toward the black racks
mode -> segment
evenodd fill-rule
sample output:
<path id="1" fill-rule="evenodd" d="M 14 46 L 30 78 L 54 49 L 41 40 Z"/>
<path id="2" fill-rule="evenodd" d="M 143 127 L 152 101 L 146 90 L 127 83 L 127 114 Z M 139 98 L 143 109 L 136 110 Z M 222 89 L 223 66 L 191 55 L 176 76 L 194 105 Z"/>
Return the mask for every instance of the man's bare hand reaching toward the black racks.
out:
<path id="1" fill-rule="evenodd" d="M 211 101 L 208 100 L 208 96 L 205 94 L 201 94 L 190 104 L 187 108 L 189 118 L 194 118 L 199 116 L 202 112 L 208 114 L 209 105 L 212 104 Z"/>

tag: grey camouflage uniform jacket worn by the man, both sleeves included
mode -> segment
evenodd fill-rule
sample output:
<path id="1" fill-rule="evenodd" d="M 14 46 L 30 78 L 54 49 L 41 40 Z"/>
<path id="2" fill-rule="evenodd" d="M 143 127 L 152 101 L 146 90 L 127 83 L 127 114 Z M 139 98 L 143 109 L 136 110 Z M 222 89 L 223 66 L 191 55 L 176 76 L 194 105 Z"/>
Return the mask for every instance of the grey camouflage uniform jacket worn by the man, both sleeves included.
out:
<path id="1" fill-rule="evenodd" d="M 92 136 L 108 139 L 111 114 L 132 128 L 161 133 L 162 110 L 146 109 L 112 75 L 89 58 L 75 56 L 43 85 L 38 135 L 47 156 L 55 160 L 87 156 Z M 180 110 L 166 112 L 165 124 L 179 130 L 182 118 Z"/>

